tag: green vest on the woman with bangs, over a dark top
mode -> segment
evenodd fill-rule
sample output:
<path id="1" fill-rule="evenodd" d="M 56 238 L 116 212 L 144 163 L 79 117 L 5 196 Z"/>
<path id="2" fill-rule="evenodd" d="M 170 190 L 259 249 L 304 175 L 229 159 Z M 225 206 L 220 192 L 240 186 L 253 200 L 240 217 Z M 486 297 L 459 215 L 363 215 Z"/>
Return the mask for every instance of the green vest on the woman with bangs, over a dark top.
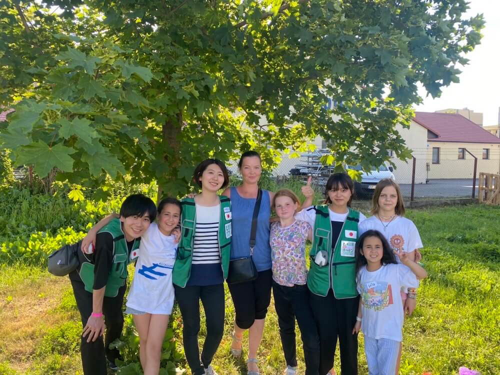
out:
<path id="1" fill-rule="evenodd" d="M 331 221 L 327 205 L 318 205 L 314 221 L 312 246 L 309 252 L 310 267 L 307 286 L 314 294 L 326 296 L 330 288 L 335 298 L 353 298 L 356 290 L 356 259 L 354 247 L 359 237 L 357 224 L 359 212 L 349 208 L 345 222 L 338 235 L 333 252 L 331 251 Z M 324 266 L 314 263 L 318 251 L 328 253 Z"/>

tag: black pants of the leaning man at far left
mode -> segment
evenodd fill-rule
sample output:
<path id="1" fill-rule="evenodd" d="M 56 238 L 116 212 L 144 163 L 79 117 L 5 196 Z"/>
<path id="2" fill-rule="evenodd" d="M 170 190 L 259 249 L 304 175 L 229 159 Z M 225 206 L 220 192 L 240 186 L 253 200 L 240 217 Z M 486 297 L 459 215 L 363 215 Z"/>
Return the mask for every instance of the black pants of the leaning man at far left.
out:
<path id="1" fill-rule="evenodd" d="M 76 306 L 80 311 L 81 324 L 84 327 L 87 324 L 88 317 L 92 313 L 92 293 L 85 290 L 83 281 L 79 279 L 77 273 L 70 274 L 70 280 Z M 102 313 L 104 314 L 106 325 L 104 342 L 102 341 L 102 336 L 90 342 L 87 342 L 88 335 L 85 337 L 81 336 L 81 364 L 85 375 L 106 375 L 106 357 L 113 363 L 115 359 L 120 357 L 117 349 L 109 349 L 109 344 L 120 337 L 121 330 L 123 329 L 121 306 L 125 290 L 126 284 L 118 289 L 118 294 L 115 297 L 104 297 L 102 303 Z"/>

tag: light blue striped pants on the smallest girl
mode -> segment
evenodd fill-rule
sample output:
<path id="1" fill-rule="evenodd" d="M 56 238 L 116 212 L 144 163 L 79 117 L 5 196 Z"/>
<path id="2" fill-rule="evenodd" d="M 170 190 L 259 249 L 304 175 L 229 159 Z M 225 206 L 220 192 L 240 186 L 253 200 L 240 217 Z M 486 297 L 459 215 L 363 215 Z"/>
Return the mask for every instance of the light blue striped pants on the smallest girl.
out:
<path id="1" fill-rule="evenodd" d="M 399 341 L 364 336 L 364 353 L 369 375 L 394 375 Z"/>

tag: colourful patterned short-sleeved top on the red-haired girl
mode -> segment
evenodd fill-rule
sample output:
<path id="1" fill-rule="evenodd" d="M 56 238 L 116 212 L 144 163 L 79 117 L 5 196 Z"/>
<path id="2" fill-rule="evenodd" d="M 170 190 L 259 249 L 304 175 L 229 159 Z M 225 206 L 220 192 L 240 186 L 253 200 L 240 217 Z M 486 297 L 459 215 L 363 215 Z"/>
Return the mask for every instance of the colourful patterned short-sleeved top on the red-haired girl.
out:
<path id="1" fill-rule="evenodd" d="M 307 281 L 305 241 L 309 229 L 309 224 L 302 220 L 295 220 L 284 228 L 279 221 L 271 223 L 272 279 L 279 285 L 304 285 Z"/>

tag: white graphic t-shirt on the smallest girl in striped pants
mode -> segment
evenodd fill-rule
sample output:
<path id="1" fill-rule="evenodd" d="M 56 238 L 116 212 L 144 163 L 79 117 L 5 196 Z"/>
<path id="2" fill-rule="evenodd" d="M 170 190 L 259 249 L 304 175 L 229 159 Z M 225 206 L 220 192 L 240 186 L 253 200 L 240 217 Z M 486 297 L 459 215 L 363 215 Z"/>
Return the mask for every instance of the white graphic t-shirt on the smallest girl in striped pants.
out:
<path id="1" fill-rule="evenodd" d="M 371 272 L 365 266 L 359 270 L 357 291 L 361 295 L 363 314 L 361 330 L 366 337 L 402 340 L 401 285 L 417 286 L 415 274 L 403 264 L 385 264 Z"/>

